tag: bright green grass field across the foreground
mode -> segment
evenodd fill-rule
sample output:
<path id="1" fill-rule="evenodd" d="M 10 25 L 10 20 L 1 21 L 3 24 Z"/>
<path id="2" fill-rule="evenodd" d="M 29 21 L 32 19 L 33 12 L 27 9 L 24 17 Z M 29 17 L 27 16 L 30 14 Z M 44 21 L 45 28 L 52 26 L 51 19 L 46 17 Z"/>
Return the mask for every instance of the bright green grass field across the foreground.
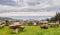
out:
<path id="1" fill-rule="evenodd" d="M 60 27 L 41 29 L 39 26 L 26 26 L 23 32 L 14 34 L 12 29 L 5 26 L 0 29 L 0 35 L 60 35 Z"/>

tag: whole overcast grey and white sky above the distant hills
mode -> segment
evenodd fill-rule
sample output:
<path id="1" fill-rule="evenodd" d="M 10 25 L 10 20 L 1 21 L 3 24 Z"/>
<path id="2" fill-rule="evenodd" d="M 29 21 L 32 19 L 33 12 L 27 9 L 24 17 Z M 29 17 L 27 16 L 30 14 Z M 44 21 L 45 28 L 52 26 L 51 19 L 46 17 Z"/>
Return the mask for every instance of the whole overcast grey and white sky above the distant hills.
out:
<path id="1" fill-rule="evenodd" d="M 45 19 L 60 12 L 60 0 L 0 0 L 0 16 Z"/>

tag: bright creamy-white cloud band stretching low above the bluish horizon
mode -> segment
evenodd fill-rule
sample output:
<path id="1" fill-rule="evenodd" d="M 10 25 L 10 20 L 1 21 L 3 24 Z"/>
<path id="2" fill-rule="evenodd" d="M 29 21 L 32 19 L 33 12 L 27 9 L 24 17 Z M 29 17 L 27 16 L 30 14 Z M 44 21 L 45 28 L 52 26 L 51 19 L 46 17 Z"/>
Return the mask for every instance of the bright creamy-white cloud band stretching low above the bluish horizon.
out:
<path id="1" fill-rule="evenodd" d="M 2 13 L 0 16 L 54 16 L 56 12 L 11 12 Z"/>

